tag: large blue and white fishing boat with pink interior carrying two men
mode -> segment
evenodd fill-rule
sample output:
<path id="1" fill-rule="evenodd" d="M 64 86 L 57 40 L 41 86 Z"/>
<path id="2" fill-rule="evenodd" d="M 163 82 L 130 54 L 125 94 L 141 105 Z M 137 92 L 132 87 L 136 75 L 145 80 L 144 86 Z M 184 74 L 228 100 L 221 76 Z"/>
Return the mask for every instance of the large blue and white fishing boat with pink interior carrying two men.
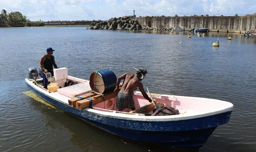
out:
<path id="1" fill-rule="evenodd" d="M 110 69 L 93 72 L 89 80 L 69 76 L 67 68 L 53 69 L 54 76 L 47 74 L 53 85 L 49 84 L 47 89 L 42 78 L 36 78 L 36 73 L 35 67 L 29 68 L 29 78 L 25 79 L 28 88 L 36 95 L 96 127 L 137 141 L 198 149 L 216 127 L 228 123 L 233 109 L 233 104 L 222 100 L 148 91 L 156 105 L 179 111 L 176 115 L 152 116 L 154 104 L 135 88 L 136 110 L 121 112 L 115 108 L 117 94 L 113 90 L 117 77 Z"/>

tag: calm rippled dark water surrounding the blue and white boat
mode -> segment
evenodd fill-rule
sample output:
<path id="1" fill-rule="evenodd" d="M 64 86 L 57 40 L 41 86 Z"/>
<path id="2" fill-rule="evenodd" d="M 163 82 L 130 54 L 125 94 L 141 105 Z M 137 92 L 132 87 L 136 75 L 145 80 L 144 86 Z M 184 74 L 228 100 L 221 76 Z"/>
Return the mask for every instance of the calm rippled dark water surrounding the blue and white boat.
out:
<path id="1" fill-rule="evenodd" d="M 24 79 L 49 46 L 57 66 L 67 67 L 72 76 L 89 80 L 92 72 L 110 68 L 118 77 L 135 72 L 135 66 L 147 69 L 143 83 L 151 92 L 233 103 L 230 122 L 196 151 L 256 151 L 256 38 L 210 32 L 188 39 L 187 32 L 85 27 L 5 28 L 0 33 L 0 151 L 177 150 L 112 135 L 35 96 Z M 212 47 L 217 38 L 220 47 Z"/>

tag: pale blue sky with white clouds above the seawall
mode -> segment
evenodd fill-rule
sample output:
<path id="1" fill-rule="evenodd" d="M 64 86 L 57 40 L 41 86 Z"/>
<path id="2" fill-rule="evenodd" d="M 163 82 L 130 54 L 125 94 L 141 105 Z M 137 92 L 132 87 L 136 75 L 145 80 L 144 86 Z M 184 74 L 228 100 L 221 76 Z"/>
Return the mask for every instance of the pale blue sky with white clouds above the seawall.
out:
<path id="1" fill-rule="evenodd" d="M 224 15 L 256 12 L 256 0 L 0 0 L 0 9 L 31 21 L 108 20 L 111 17 Z"/>

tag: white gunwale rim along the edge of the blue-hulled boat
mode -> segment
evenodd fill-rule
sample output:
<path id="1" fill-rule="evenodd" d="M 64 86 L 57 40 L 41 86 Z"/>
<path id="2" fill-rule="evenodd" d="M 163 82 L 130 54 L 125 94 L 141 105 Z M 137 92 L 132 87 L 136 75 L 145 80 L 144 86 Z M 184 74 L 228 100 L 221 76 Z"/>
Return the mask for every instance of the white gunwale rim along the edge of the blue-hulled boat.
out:
<path id="1" fill-rule="evenodd" d="M 48 96 L 49 98 L 51 98 L 53 100 L 56 100 L 56 101 L 60 102 L 62 104 L 68 105 L 67 103 L 65 103 L 63 101 L 61 101 L 57 98 L 54 98 L 53 96 L 50 95 L 51 93 L 49 93 L 49 92 L 43 90 L 42 88 L 38 87 L 32 81 L 30 81 L 29 79 L 26 78 L 25 81 L 28 85 L 30 85 L 31 87 L 33 87 L 35 90 L 39 91 L 40 93 Z M 139 91 L 135 91 L 135 93 L 139 93 Z M 170 96 L 170 95 L 167 95 L 167 96 Z M 175 97 L 187 97 L 187 96 L 175 96 Z M 208 98 L 200 98 L 200 97 L 188 97 L 188 98 L 208 99 Z M 214 100 L 216 100 L 216 99 L 214 99 Z M 218 101 L 226 102 L 226 101 L 222 101 L 222 100 L 218 100 Z M 229 102 L 227 102 L 227 103 L 229 103 Z M 56 106 L 56 105 L 54 105 L 54 106 Z M 70 105 L 68 105 L 68 106 L 70 106 Z M 76 108 L 76 107 L 71 107 L 71 108 Z M 113 110 L 113 112 L 105 112 L 105 111 L 99 111 L 99 110 L 91 109 L 91 108 L 85 108 L 85 109 L 76 108 L 76 109 L 80 110 L 81 112 L 94 113 L 94 114 L 102 116 L 102 117 L 110 117 L 110 118 L 123 119 L 123 120 L 143 121 L 143 122 L 170 122 L 170 121 L 181 121 L 181 120 L 197 119 L 197 118 L 203 118 L 203 117 L 207 117 L 207 116 L 213 116 L 213 115 L 225 113 L 225 112 L 233 110 L 233 104 L 229 103 L 229 106 L 226 106 L 225 108 L 222 108 L 220 110 L 214 110 L 214 111 L 209 111 L 207 113 L 189 115 L 189 116 L 180 114 L 180 115 L 172 115 L 172 116 L 149 117 L 149 116 L 128 115 L 128 114 L 124 114 L 124 113 L 117 113 L 117 112 L 114 112 L 115 110 Z"/>

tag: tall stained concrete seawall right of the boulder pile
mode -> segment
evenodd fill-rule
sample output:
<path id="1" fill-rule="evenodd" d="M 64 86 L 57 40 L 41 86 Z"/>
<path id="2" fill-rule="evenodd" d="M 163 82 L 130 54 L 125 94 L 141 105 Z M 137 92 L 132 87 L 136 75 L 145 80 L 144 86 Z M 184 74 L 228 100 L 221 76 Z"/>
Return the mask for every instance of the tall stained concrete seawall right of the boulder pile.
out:
<path id="1" fill-rule="evenodd" d="M 183 16 L 183 17 L 131 17 L 142 27 L 151 28 L 209 28 L 221 30 L 255 30 L 256 15 L 246 16 Z"/>

